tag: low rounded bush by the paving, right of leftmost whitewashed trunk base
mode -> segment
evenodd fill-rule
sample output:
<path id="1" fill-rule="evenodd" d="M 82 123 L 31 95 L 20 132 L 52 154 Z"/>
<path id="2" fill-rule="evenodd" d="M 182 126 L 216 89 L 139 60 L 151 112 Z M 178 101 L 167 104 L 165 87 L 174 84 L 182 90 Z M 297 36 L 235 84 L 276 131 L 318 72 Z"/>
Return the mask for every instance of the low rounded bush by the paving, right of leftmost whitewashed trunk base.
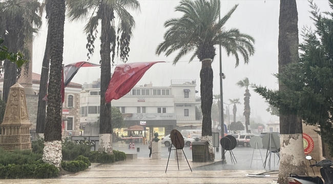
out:
<path id="1" fill-rule="evenodd" d="M 91 166 L 89 158 L 85 156 L 78 156 L 75 160 L 69 162 L 61 162 L 61 168 L 69 172 L 84 171 L 89 166 Z"/>

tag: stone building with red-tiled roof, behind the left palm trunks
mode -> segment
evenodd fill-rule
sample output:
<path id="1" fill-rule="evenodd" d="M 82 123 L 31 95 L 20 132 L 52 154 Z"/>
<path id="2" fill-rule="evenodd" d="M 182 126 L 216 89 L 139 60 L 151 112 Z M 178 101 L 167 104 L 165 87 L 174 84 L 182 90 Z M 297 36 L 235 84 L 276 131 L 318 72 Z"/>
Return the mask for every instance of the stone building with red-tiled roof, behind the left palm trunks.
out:
<path id="1" fill-rule="evenodd" d="M 0 78 L 0 98 L 2 98 L 4 78 Z M 32 124 L 31 133 L 36 131 L 37 108 L 38 108 L 38 91 L 40 84 L 40 75 L 32 73 L 32 88 L 34 95 L 26 95 L 29 119 Z M 65 88 L 65 102 L 63 107 L 63 135 L 79 135 L 80 126 L 80 91 L 82 85 L 71 82 Z"/>

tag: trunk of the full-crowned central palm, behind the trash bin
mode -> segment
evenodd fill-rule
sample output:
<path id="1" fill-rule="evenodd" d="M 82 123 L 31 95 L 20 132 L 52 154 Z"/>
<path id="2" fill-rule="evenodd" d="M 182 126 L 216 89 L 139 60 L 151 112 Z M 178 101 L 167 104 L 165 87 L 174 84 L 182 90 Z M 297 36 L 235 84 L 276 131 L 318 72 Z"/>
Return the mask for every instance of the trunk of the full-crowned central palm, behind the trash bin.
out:
<path id="1" fill-rule="evenodd" d="M 204 59 L 200 71 L 202 141 L 209 142 L 210 160 L 215 159 L 212 139 L 213 69 L 212 60 Z M 222 95 L 222 94 L 221 94 Z"/>

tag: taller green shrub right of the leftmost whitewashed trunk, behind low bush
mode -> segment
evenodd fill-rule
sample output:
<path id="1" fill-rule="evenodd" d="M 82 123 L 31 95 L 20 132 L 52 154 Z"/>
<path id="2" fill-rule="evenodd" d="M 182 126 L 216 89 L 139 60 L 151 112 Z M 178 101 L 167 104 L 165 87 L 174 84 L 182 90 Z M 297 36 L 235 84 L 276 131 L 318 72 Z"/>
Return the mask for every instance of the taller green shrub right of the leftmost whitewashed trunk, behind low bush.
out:
<path id="1" fill-rule="evenodd" d="M 74 143 L 68 138 L 63 143 L 63 160 L 74 160 L 79 155 L 89 157 L 91 145 L 86 143 Z"/>

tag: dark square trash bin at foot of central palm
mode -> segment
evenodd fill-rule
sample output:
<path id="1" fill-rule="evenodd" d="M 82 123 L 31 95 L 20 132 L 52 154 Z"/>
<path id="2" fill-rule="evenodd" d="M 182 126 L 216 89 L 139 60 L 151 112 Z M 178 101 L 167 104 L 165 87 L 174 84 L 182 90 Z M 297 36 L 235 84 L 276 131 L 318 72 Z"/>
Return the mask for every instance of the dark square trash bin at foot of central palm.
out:
<path id="1" fill-rule="evenodd" d="M 209 143 L 192 142 L 192 160 L 193 162 L 207 162 L 209 160 Z"/>

